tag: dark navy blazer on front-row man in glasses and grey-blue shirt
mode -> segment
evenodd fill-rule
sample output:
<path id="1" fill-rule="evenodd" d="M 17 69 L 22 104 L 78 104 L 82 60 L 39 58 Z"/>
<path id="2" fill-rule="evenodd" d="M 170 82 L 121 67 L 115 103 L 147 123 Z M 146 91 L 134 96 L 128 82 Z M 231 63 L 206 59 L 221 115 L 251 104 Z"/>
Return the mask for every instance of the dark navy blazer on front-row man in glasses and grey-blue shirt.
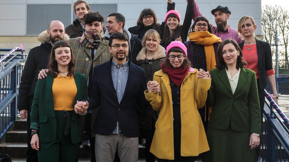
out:
<path id="1" fill-rule="evenodd" d="M 129 62 L 129 75 L 121 102 L 118 103 L 111 75 L 111 61 L 94 67 L 94 79 L 89 108 L 99 107 L 92 132 L 110 135 L 118 122 L 121 132 L 126 137 L 139 136 L 137 108 L 147 109 L 149 102 L 145 99 L 145 71 Z"/>

